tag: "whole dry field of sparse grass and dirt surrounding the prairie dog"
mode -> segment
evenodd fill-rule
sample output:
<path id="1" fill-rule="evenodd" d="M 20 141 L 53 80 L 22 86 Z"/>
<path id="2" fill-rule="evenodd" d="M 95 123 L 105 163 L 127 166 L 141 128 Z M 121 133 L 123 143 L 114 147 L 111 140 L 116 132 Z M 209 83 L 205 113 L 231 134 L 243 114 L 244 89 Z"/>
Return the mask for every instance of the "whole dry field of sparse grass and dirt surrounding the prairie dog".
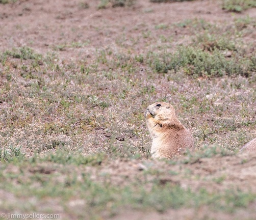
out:
<path id="1" fill-rule="evenodd" d="M 12 43 L 11 33 L 35 32 L 32 21 L 8 23 L 33 13 L 28 2 L 0 1 L 7 3 L 0 4 L 7 13 L 0 44 L 0 214 L 256 217 L 256 155 L 238 152 L 256 136 L 254 1 L 204 1 L 204 17 L 196 14 L 200 1 L 77 1 L 70 10 L 91 10 L 95 17 L 88 16 L 85 29 L 94 34 L 83 38 L 82 21 L 65 11 L 54 14 L 54 31 L 44 24 L 34 40 Z M 11 14 L 13 5 L 23 14 Z M 158 17 L 159 10 L 183 6 L 196 6 L 190 18 Z M 136 24 L 124 23 L 139 14 Z M 64 29 L 59 20 L 75 24 Z M 6 31 L 7 24 L 13 29 Z M 156 101 L 174 106 L 196 152 L 150 158 L 143 113 Z"/>

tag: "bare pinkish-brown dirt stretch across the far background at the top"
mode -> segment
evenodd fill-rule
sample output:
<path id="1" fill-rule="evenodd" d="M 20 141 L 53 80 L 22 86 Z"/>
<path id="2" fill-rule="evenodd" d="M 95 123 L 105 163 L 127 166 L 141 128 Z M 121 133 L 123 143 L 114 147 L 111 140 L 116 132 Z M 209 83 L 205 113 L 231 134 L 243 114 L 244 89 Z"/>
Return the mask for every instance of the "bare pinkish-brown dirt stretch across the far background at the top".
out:
<path id="1" fill-rule="evenodd" d="M 141 39 L 134 47 L 131 39 L 136 39 L 143 31 L 155 29 L 160 23 L 170 25 L 194 18 L 202 18 L 212 23 L 225 23 L 235 17 L 256 16 L 255 9 L 240 14 L 226 13 L 220 10 L 221 1 L 210 0 L 171 4 L 154 4 L 139 0 L 132 9 L 118 7 L 105 10 L 97 10 L 99 1 L 88 2 L 87 9 L 83 9 L 81 3 L 83 2 L 27 0 L 1 5 L 0 49 L 30 46 L 40 53 L 46 53 L 52 51 L 55 45 L 90 42 L 86 48 L 67 48 L 59 54 L 65 59 L 78 59 L 81 54 L 89 58 L 95 48 L 108 48 L 113 45 L 118 47 L 116 40 L 124 36 L 127 49 L 140 53 L 155 45 L 151 44 L 153 42 L 150 42 L 150 39 Z M 152 34 L 168 34 L 168 31 L 171 30 L 154 31 Z M 186 29 L 175 33 L 174 44 L 186 40 Z M 255 34 L 246 40 L 255 42 Z"/>

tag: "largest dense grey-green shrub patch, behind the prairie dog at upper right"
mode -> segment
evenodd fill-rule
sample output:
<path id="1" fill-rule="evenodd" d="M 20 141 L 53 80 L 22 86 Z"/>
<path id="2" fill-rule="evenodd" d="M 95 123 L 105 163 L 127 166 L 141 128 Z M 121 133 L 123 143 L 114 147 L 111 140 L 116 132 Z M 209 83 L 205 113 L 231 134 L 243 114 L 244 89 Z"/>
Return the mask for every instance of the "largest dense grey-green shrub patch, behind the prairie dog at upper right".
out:
<path id="1" fill-rule="evenodd" d="M 223 47 L 219 46 L 220 49 Z M 230 46 L 231 48 L 232 45 Z M 179 71 L 184 68 L 185 73 L 198 76 L 223 76 L 239 74 L 248 76 L 255 71 L 255 56 L 243 58 L 235 54 L 232 58 L 226 59 L 225 54 L 214 46 L 211 52 L 193 47 L 180 47 L 177 52 L 164 53 L 161 57 L 158 54 L 149 54 L 149 65 L 157 72 L 167 73 L 169 70 Z"/>

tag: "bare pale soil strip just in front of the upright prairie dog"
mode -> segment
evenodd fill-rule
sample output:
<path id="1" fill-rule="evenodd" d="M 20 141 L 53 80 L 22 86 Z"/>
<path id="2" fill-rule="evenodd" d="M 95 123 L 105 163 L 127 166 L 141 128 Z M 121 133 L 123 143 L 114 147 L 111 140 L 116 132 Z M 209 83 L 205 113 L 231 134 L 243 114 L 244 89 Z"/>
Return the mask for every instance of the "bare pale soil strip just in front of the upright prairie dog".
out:
<path id="1" fill-rule="evenodd" d="M 231 188 L 256 193 L 255 152 L 204 157 L 189 162 L 185 160 L 184 156 L 177 157 L 175 164 L 161 160 L 112 160 L 87 169 L 93 180 L 104 182 L 106 178 L 102 174 L 108 174 L 108 180 L 116 186 L 130 184 L 138 178 L 144 180 L 142 173 L 150 171 L 151 178 L 157 177 L 163 185 L 171 183 L 194 191 L 203 187 L 212 193 Z M 152 174 L 153 171 L 155 174 Z"/>

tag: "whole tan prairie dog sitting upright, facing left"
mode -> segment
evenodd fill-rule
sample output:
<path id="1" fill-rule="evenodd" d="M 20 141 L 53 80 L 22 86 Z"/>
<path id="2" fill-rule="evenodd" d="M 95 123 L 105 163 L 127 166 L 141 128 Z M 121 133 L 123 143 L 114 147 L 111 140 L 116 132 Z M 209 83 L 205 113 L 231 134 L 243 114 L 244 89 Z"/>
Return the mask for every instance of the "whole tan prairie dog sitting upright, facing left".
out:
<path id="1" fill-rule="evenodd" d="M 156 102 L 149 105 L 145 118 L 152 136 L 152 157 L 172 158 L 186 149 L 194 149 L 192 134 L 177 119 L 171 104 Z"/>

